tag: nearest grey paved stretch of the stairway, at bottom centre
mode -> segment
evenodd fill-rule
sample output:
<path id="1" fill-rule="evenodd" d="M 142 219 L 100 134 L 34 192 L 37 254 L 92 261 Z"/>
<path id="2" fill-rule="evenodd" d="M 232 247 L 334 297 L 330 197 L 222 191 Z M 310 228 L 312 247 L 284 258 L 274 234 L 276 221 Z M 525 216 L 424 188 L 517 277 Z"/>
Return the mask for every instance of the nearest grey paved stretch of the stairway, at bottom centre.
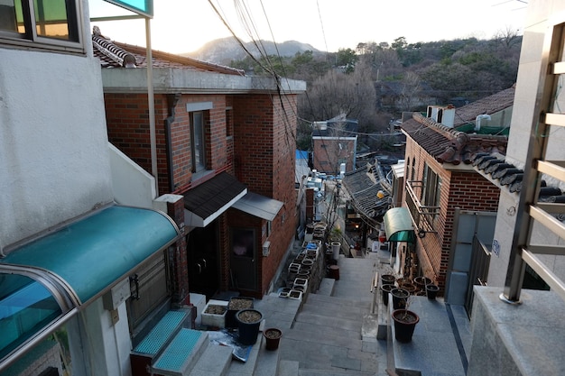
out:
<path id="1" fill-rule="evenodd" d="M 278 375 L 375 376 L 379 344 L 362 337 L 369 309 L 367 301 L 310 294 L 282 338 Z"/>

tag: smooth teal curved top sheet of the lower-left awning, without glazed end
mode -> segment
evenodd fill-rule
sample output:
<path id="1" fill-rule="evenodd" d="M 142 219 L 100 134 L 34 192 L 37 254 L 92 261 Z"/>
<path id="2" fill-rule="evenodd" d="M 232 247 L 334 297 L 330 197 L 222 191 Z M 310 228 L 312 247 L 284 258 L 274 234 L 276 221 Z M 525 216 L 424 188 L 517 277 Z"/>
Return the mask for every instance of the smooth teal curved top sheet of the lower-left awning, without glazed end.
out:
<path id="1" fill-rule="evenodd" d="M 0 264 L 51 271 L 66 281 L 84 304 L 123 280 L 177 236 L 177 226 L 162 213 L 110 206 L 23 245 Z"/>

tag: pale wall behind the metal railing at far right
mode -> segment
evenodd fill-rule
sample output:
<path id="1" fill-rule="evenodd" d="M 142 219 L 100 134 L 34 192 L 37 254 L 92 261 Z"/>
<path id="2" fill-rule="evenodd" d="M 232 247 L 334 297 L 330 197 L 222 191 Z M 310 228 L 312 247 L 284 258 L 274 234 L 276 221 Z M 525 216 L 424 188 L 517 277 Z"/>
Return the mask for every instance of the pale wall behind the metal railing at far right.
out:
<path id="1" fill-rule="evenodd" d="M 545 32 L 551 17 L 560 15 L 560 22 L 565 21 L 565 1 L 562 0 L 533 0 L 528 5 L 526 23 L 523 32 L 522 52 L 514 96 L 514 108 L 506 160 L 523 168 L 532 129 L 534 105 L 537 94 L 538 80 L 542 68 L 542 48 Z M 565 110 L 563 98 L 558 98 L 561 111 Z M 548 145 L 548 160 L 565 160 L 565 129 L 554 127 L 551 129 L 551 142 Z M 555 184 L 550 181 L 549 184 Z M 560 187 L 563 189 L 564 187 Z M 498 244 L 499 254 L 493 252 L 488 272 L 488 285 L 503 287 L 505 285 L 506 270 L 515 225 L 515 208 L 518 204 L 518 195 L 509 192 L 501 194 L 496 218 L 495 240 Z M 549 230 L 534 226 L 533 243 L 563 243 L 562 240 Z M 542 256 L 543 262 L 561 279 L 565 278 L 565 259 L 560 256 Z"/>

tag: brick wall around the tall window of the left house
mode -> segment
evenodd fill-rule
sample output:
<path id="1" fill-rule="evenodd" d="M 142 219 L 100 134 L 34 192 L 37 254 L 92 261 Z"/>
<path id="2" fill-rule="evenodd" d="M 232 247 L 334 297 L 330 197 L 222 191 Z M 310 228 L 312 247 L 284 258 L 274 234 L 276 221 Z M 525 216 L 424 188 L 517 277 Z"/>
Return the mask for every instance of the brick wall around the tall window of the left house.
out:
<path id="1" fill-rule="evenodd" d="M 156 94 L 154 97 L 159 195 L 186 187 L 192 179 L 188 103 L 213 103 L 213 108 L 204 112 L 207 170 L 233 173 L 230 170 L 233 155 L 228 154 L 233 152 L 233 145 L 231 140 L 227 140 L 226 129 L 226 106 L 231 98 L 224 95 L 184 95 L 174 107 L 174 122 L 171 124 L 174 187 L 170 188 L 165 141 L 165 120 L 170 116 L 170 109 L 166 95 Z M 105 94 L 105 103 L 109 141 L 152 173 L 147 95 Z"/>

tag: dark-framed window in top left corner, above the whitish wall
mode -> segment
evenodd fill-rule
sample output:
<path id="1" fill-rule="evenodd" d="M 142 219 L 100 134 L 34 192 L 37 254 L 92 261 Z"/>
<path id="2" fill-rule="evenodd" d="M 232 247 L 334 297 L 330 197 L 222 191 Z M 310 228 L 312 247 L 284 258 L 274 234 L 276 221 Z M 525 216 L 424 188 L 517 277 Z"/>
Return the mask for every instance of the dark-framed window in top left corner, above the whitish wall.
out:
<path id="1" fill-rule="evenodd" d="M 77 0 L 3 0 L 0 41 L 29 47 L 82 51 Z"/>

